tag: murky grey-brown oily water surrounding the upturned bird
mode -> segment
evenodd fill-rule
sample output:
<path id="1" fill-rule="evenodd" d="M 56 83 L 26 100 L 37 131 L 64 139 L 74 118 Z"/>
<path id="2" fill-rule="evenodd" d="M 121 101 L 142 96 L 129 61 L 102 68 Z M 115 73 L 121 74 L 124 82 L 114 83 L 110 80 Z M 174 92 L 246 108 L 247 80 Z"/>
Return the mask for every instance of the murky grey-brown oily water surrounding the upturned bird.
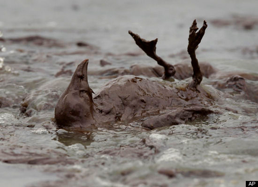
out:
<path id="1" fill-rule="evenodd" d="M 236 16 L 258 20 L 255 0 L 21 0 L 15 5 L 1 1 L 1 5 L 2 38 L 39 35 L 58 40 L 56 45 L 0 41 L 2 184 L 244 186 L 245 180 L 258 180 L 257 102 L 225 98 L 211 86 L 211 82 L 227 78 L 228 72 L 257 75 L 258 23 L 246 29 L 245 22 L 236 20 Z M 55 76 L 62 68 L 73 72 L 85 58 L 90 59 L 89 72 L 133 64 L 154 66 L 155 61 L 135 45 L 128 30 L 148 40 L 158 37 L 157 54 L 169 63 L 190 63 L 184 52 L 193 19 L 199 27 L 204 19 L 208 23 L 197 57 L 221 73 L 202 83 L 219 98 L 216 104 L 220 114 L 152 131 L 141 128 L 141 119 L 89 132 L 56 129 L 54 107 L 71 78 L 69 73 Z M 218 27 L 212 24 L 215 19 L 231 22 Z M 78 41 L 90 46 L 78 47 Z M 112 65 L 100 67 L 100 59 Z M 100 78 L 89 76 L 96 93 L 110 81 Z M 257 80 L 246 82 L 253 85 L 255 94 Z M 226 92 L 237 95 L 232 90 Z M 20 114 L 25 97 L 31 110 Z"/>

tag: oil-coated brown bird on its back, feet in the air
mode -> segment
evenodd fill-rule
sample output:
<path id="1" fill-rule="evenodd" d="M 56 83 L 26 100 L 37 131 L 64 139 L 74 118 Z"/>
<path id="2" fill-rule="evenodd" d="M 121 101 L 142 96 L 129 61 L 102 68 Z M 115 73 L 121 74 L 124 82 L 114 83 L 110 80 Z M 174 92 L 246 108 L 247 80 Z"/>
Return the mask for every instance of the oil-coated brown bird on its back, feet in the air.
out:
<path id="1" fill-rule="evenodd" d="M 55 108 L 55 119 L 58 127 L 79 127 L 89 128 L 100 126 L 105 122 L 130 121 L 135 118 L 150 116 L 167 108 L 176 109 L 176 115 L 165 114 L 165 123 L 151 123 L 148 119 L 143 123 L 145 128 L 154 129 L 160 126 L 179 124 L 201 114 L 208 114 L 214 111 L 206 107 L 212 103 L 210 95 L 200 86 L 202 74 L 199 69 L 195 50 L 204 35 L 207 27 L 204 21 L 203 27 L 195 33 L 198 28 L 196 21 L 190 27 L 188 52 L 192 59 L 194 70 L 193 81 L 189 85 L 176 88 L 173 85 L 162 84 L 148 79 L 135 76 L 121 76 L 107 83 L 93 98 L 93 91 L 88 84 L 87 68 L 89 60 L 83 60 L 73 74 L 71 83 L 59 98 Z M 175 74 L 175 68 L 165 63 L 155 53 L 157 39 L 146 41 L 138 35 L 129 32 L 147 55 L 154 58 L 159 65 L 165 68 L 163 78 Z M 173 71 L 169 72 L 169 67 Z M 168 68 L 168 69 L 166 69 Z M 189 108 L 189 106 L 191 106 Z M 161 117 L 161 118 L 160 118 Z M 163 120 L 158 116 L 152 121 Z"/>

